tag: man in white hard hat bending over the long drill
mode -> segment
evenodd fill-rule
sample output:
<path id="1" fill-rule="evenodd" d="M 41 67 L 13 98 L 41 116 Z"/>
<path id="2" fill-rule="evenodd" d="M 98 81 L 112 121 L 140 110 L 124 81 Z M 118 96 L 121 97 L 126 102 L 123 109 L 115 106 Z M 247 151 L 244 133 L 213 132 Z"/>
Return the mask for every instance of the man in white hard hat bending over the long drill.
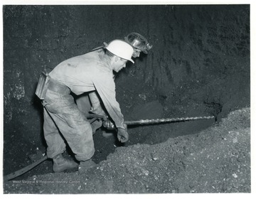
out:
<path id="1" fill-rule="evenodd" d="M 104 43 L 103 48 L 63 61 L 48 74 L 48 81 L 43 87 L 46 90 L 42 101 L 43 130 L 48 145 L 47 156 L 53 158 L 53 171 L 61 172 L 78 167 L 78 163 L 63 157 L 65 144 L 70 146 L 80 162 L 80 173 L 95 165 L 92 161 L 95 153 L 92 132 L 95 127 L 90 124 L 87 114 L 82 112 L 79 102 L 75 104 L 71 93 L 87 93 L 90 98 L 89 112 L 101 115 L 105 127 L 114 125 L 119 141 L 126 142 L 129 139 L 127 125 L 124 124 L 124 117 L 115 98 L 113 77 L 114 72 L 124 68 L 127 61 L 134 63 L 132 56 L 138 56 L 139 50 L 145 51 L 149 48 L 147 46 L 143 44 L 136 51 L 129 42 L 114 40 Z M 102 122 L 97 123 L 99 128 Z"/>

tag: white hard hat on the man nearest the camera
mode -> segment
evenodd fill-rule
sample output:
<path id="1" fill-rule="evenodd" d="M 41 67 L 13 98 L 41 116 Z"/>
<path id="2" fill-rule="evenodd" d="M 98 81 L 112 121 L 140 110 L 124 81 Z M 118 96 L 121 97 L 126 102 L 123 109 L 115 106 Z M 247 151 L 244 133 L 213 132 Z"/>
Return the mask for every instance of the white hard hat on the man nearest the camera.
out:
<path id="1" fill-rule="evenodd" d="M 132 53 L 134 52 L 132 45 L 129 45 L 125 41 L 119 39 L 113 40 L 109 44 L 104 43 L 104 45 L 106 46 L 106 49 L 110 51 L 110 53 L 134 63 L 134 60 L 132 60 Z"/>

